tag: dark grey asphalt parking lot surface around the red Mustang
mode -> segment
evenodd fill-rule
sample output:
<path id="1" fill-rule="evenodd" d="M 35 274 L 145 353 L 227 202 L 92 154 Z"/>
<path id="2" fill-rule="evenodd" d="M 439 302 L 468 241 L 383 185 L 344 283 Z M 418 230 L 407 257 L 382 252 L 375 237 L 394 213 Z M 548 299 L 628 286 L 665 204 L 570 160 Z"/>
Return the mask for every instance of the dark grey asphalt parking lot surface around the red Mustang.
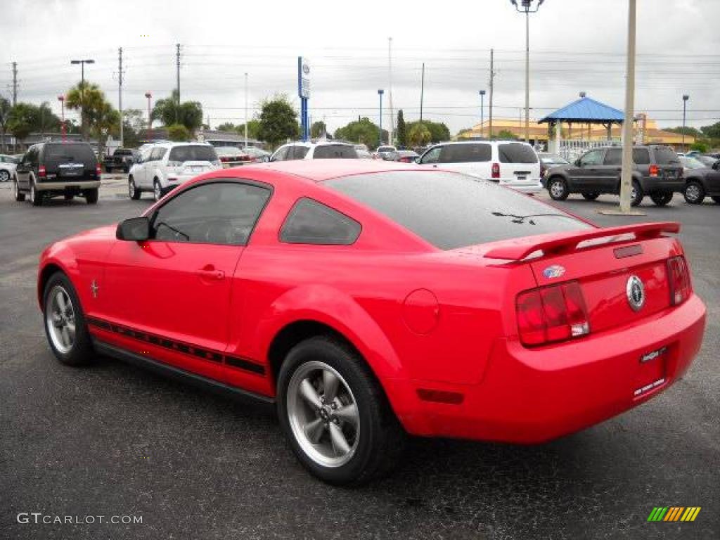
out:
<path id="1" fill-rule="evenodd" d="M 150 204 L 104 181 L 99 204 L 17 203 L 0 185 L 0 538 L 644 539 L 720 537 L 720 205 L 680 195 L 643 217 L 562 207 L 601 225 L 678 220 L 708 306 L 701 353 L 656 399 L 541 446 L 410 442 L 394 476 L 359 490 L 313 480 L 273 418 L 119 361 L 55 361 L 35 297 L 37 258 L 71 233 Z M 142 294 L 142 291 L 138 291 Z M 649 523 L 655 506 L 700 506 Z M 19 524 L 17 514 L 142 516 L 142 524 Z"/>

